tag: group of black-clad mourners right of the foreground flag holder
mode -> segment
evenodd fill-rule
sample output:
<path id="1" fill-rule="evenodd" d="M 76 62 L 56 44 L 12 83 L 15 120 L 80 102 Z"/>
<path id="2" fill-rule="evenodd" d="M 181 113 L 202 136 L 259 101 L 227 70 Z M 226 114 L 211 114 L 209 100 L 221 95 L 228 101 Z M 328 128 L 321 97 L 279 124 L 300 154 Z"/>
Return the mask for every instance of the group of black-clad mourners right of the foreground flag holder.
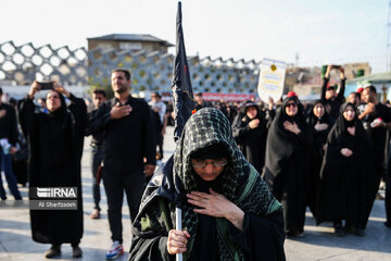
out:
<path id="1" fill-rule="evenodd" d="M 290 91 L 279 104 L 248 101 L 232 121 L 241 151 L 282 203 L 291 237 L 303 236 L 306 207 L 317 224 L 333 222 L 338 236 L 364 236 L 380 182 L 389 185 L 390 104 L 369 84 L 345 99 L 343 67 L 340 86 L 329 85 L 331 70 L 320 99 L 303 104 Z M 389 194 L 390 185 L 388 227 Z"/>

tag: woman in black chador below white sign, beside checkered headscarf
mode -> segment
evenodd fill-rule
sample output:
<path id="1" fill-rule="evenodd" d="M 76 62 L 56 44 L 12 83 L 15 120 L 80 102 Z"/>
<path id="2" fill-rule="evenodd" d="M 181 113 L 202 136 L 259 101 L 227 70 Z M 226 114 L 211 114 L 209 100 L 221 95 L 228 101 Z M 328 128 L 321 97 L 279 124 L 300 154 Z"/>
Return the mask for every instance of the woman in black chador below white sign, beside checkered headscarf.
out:
<path id="1" fill-rule="evenodd" d="M 232 133 L 245 159 L 262 173 L 265 164 L 267 129 L 266 121 L 255 103 L 245 102 L 242 113 L 234 121 Z"/>

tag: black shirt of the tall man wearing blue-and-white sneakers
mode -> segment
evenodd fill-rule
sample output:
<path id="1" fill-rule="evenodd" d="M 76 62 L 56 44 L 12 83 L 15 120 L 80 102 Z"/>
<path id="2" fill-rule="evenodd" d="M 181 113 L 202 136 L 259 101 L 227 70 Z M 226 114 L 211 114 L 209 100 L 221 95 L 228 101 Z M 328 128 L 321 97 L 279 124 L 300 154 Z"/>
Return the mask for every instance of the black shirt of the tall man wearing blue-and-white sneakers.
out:
<path id="1" fill-rule="evenodd" d="M 143 158 L 147 158 L 146 164 L 154 165 L 156 139 L 149 105 L 129 96 L 125 104 L 133 108 L 130 114 L 111 120 L 110 111 L 117 102 L 114 98 L 103 103 L 89 125 L 92 135 L 103 133 L 105 171 L 113 174 L 133 173 L 133 170 L 143 166 Z"/>

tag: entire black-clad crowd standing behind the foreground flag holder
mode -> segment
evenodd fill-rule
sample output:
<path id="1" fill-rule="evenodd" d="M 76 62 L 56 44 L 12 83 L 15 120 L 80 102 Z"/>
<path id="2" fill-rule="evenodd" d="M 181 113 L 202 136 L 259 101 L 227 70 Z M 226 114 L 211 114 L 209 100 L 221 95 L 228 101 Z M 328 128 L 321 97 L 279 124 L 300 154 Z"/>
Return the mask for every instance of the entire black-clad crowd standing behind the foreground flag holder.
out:
<path id="1" fill-rule="evenodd" d="M 329 85 L 331 70 L 340 72 L 339 86 Z M 306 207 L 318 224 L 333 222 L 338 236 L 345 233 L 364 236 L 380 182 L 387 185 L 384 225 L 391 227 L 390 104 L 380 102 L 376 88 L 370 85 L 357 88 L 345 99 L 344 85 L 343 69 L 330 65 L 321 95 L 314 102 L 301 102 L 293 91 L 276 102 L 273 99 L 267 102 L 210 102 L 202 99 L 202 94 L 194 95 L 195 110 L 214 107 L 229 120 L 241 152 L 262 173 L 273 195 L 282 203 L 288 236 L 303 236 Z M 15 199 L 22 199 L 16 182 L 29 183 L 29 186 L 80 187 L 83 137 L 93 136 L 94 209 L 91 219 L 100 217 L 99 181 L 103 178 L 110 198 L 109 220 L 113 234 L 113 246 L 106 258 L 116 258 L 123 252 L 118 210 L 123 189 L 134 220 L 143 187 L 156 161 L 163 159 L 165 127 L 174 125 L 173 103 L 163 102 L 159 92 L 153 92 L 148 103 L 131 98 L 128 94 L 130 75 L 122 70 L 112 73 L 112 86 L 116 94 L 112 100 L 106 100 L 103 89 L 92 91 L 88 114 L 83 99 L 58 85 L 46 99 L 35 101 L 34 95 L 40 90 L 36 82 L 26 99 L 20 102 L 11 99 L 10 104 L 0 104 L 0 139 L 8 141 L 0 150 L 1 163 Z M 129 115 L 130 120 L 125 121 Z M 137 119 L 134 115 L 138 115 Z M 137 160 L 126 160 L 129 153 Z M 103 161 L 104 171 L 100 167 Z M 53 170 L 61 170 L 64 176 L 75 174 L 60 181 Z M 136 172 L 144 174 L 142 181 L 135 182 Z M 137 195 L 131 190 L 135 185 L 140 187 Z M 7 199 L 2 183 L 0 196 Z M 131 202 L 131 198 L 138 202 Z M 81 204 L 81 198 L 78 200 Z M 78 231 L 83 231 L 80 211 L 76 215 L 59 215 L 58 222 L 77 224 Z M 65 233 L 70 226 L 63 226 L 62 232 L 56 232 L 63 235 L 59 238 L 52 231 L 54 223 L 48 226 L 50 221 L 46 220 L 52 219 L 52 213 L 45 216 L 45 211 L 31 212 L 33 238 L 52 244 L 47 257 L 56 257 L 62 243 L 71 243 L 74 257 L 80 257 L 78 244 L 83 233 Z"/>

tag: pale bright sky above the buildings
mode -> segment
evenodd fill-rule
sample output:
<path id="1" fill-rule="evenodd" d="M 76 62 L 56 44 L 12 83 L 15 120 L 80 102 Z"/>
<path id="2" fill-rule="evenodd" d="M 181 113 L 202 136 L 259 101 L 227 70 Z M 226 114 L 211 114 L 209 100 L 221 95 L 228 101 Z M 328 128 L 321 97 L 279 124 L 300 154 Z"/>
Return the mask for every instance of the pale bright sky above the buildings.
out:
<path id="1" fill-rule="evenodd" d="M 388 0 L 184 0 L 188 55 L 320 65 L 387 64 Z M 175 44 L 174 0 L 0 0 L 0 42 L 87 46 L 87 37 L 150 34 Z M 174 48 L 172 52 L 174 52 Z"/>

